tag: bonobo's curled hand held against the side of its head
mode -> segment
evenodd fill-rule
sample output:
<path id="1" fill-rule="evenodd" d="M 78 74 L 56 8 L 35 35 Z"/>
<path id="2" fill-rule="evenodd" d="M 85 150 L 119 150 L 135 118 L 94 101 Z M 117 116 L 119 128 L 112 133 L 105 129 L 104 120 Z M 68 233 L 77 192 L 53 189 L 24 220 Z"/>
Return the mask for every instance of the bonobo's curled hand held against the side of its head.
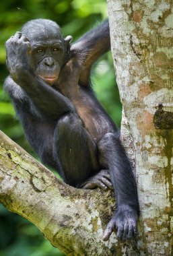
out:
<path id="1" fill-rule="evenodd" d="M 18 81 L 21 73 L 29 67 L 28 55 L 30 42 L 21 32 L 16 32 L 5 44 L 7 52 L 7 68 L 14 81 Z"/>

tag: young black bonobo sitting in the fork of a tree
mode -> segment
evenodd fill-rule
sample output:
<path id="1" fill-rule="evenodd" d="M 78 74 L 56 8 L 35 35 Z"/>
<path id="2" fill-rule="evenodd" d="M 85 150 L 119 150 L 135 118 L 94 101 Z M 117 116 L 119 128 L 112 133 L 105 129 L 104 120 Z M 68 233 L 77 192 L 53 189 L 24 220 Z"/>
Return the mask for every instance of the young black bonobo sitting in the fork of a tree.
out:
<path id="1" fill-rule="evenodd" d="M 65 183 L 83 189 L 114 188 L 117 209 L 104 241 L 117 230 L 137 234 L 139 203 L 131 164 L 116 125 L 92 90 L 93 63 L 110 49 L 108 21 L 71 44 L 50 20 L 27 22 L 6 42 L 5 80 L 26 137 L 42 162 Z"/>

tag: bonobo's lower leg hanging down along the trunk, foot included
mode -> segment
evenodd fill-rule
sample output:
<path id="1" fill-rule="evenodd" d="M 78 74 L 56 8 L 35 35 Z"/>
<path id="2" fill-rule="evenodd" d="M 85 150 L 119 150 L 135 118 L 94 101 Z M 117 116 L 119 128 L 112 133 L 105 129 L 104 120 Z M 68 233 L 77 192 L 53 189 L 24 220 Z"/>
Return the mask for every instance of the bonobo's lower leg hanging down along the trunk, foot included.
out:
<path id="1" fill-rule="evenodd" d="M 137 234 L 139 203 L 131 164 L 116 133 L 106 133 L 98 142 L 100 164 L 108 168 L 116 193 L 117 210 L 104 232 L 104 241 L 117 229 L 117 237 L 125 241 Z"/>

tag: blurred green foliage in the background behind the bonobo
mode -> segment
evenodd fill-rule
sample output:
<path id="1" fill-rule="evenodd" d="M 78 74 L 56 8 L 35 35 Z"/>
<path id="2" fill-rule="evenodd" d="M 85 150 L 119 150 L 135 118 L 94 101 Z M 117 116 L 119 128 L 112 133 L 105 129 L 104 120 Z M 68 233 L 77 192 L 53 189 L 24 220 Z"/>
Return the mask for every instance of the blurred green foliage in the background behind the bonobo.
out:
<path id="1" fill-rule="evenodd" d="M 4 43 L 22 24 L 35 18 L 57 22 L 63 35 L 77 39 L 98 22 L 108 17 L 106 0 L 6 0 L 0 3 L 0 129 L 34 156 L 15 118 L 3 82 L 8 75 L 5 67 Z M 116 87 L 112 57 L 104 55 L 94 67 L 92 82 L 98 99 L 120 126 L 121 105 Z M 0 256 L 63 255 L 44 239 L 40 231 L 24 218 L 8 212 L 0 205 Z"/>

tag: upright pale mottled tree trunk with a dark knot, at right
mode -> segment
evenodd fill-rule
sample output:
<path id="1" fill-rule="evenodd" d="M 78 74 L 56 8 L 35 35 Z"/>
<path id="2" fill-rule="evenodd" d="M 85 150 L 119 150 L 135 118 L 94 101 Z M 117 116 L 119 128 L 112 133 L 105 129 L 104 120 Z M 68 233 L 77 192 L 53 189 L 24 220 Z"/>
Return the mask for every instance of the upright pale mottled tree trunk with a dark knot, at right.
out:
<path id="1" fill-rule="evenodd" d="M 141 208 L 137 251 L 127 255 L 173 255 L 173 2 L 108 0 L 108 11 Z"/>

